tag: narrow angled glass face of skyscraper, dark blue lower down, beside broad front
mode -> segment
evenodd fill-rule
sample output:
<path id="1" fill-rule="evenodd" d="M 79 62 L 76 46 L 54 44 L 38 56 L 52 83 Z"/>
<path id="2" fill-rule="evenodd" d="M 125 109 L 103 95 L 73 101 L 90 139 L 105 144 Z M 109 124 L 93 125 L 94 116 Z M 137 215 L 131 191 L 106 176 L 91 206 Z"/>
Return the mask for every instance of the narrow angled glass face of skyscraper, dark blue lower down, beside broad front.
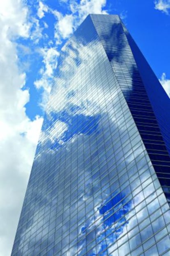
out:
<path id="1" fill-rule="evenodd" d="M 103 25 L 101 26 L 102 19 L 104 28 Z M 158 121 L 156 120 L 155 115 L 157 112 L 156 110 L 153 111 L 144 82 L 141 79 L 139 69 L 136 65 L 136 59 L 133 56 L 135 42 L 133 41 L 133 45 L 131 45 L 132 38 L 119 19 L 116 25 L 105 17 L 101 17 L 99 20 L 98 17 L 92 15 L 92 20 L 170 204 L 170 155 L 165 146 Z M 117 33 L 117 31 L 119 31 L 119 33 Z M 106 35 L 108 35 L 108 38 L 106 38 Z M 127 38 L 131 38 L 129 42 L 126 35 Z M 115 38 L 117 39 L 117 44 L 113 47 Z M 119 41 L 121 41 L 122 44 L 119 44 Z M 121 56 L 120 52 L 123 52 Z M 139 49 L 136 55 L 142 55 Z M 143 56 L 140 59 L 140 63 L 141 62 L 143 66 L 148 66 Z M 152 70 L 149 71 L 149 73 L 153 73 Z M 145 73 L 147 73 L 146 70 Z M 154 82 L 157 83 L 158 81 L 156 80 Z M 161 85 L 159 86 L 162 87 Z M 152 94 L 154 94 L 154 92 L 152 92 Z M 166 97 L 167 95 L 165 99 Z M 165 111 L 161 109 L 161 114 L 157 115 L 158 119 L 161 118 L 161 123 L 163 122 L 163 117 L 161 116 L 163 112 Z M 167 127 L 167 125 L 163 126 L 163 128 L 167 129 L 165 136 L 169 134 Z"/>

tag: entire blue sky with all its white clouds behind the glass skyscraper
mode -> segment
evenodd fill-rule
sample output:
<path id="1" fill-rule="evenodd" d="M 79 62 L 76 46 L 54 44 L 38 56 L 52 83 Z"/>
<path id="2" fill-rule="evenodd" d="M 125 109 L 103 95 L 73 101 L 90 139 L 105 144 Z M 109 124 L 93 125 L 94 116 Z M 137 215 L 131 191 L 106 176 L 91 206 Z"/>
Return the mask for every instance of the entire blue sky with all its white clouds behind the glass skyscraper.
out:
<path id="1" fill-rule="evenodd" d="M 60 49 L 88 13 L 119 14 L 170 95 L 170 0 L 1 1 L 0 256 L 11 253 Z"/>

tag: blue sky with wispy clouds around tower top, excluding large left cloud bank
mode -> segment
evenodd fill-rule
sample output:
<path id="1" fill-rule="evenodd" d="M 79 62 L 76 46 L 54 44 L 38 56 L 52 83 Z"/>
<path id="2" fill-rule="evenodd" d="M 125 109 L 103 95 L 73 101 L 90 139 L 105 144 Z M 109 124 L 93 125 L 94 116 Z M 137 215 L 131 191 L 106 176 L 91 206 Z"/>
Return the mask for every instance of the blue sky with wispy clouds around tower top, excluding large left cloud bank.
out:
<path id="1" fill-rule="evenodd" d="M 27 3 L 32 22 L 31 36 L 18 38 L 17 49 L 19 62 L 24 64 L 23 72 L 26 74 L 23 89 L 30 90 L 30 100 L 25 107 L 31 120 L 36 115 L 43 116 L 60 49 L 87 15 L 88 7 L 89 11 L 92 7 L 96 12 L 119 14 L 157 77 L 161 78 L 163 73 L 167 79 L 170 77 L 170 17 L 166 5 L 163 9 L 163 2 L 156 5 L 154 1 L 101 0 L 95 3 L 96 7 L 93 3 L 90 6 L 90 1 L 81 2 L 82 5 L 80 1 L 65 0 Z M 31 53 L 25 53 L 22 46 L 28 47 Z"/>

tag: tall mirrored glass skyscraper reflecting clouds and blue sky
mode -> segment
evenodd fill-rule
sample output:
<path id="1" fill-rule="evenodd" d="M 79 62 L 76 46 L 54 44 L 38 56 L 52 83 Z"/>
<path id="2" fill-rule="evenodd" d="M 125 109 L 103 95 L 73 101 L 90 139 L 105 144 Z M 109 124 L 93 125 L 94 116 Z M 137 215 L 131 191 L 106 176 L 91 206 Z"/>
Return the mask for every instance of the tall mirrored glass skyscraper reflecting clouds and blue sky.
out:
<path id="1" fill-rule="evenodd" d="M 169 109 L 119 16 L 87 16 L 60 54 L 11 255 L 170 255 Z"/>

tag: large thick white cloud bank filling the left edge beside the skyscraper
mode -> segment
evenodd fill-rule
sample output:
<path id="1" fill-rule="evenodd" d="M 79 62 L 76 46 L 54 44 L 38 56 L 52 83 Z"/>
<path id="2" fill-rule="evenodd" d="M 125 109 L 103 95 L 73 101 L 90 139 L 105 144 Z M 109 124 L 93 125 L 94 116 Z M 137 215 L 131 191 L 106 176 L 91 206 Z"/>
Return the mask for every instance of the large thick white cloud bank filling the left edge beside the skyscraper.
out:
<path id="1" fill-rule="evenodd" d="M 18 68 L 15 38 L 30 36 L 28 8 L 22 1 L 0 1 L 0 256 L 14 242 L 42 118 L 25 114 L 29 91 Z"/>

